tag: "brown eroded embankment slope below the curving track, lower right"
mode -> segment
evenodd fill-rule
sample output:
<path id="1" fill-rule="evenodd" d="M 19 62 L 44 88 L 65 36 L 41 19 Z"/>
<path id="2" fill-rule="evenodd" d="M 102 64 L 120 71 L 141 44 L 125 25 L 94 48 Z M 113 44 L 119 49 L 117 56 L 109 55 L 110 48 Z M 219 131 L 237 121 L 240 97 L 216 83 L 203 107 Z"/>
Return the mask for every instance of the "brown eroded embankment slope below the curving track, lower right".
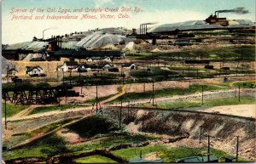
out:
<path id="1" fill-rule="evenodd" d="M 167 134 L 189 139 L 207 139 L 210 134 L 215 140 L 226 144 L 223 150 L 236 152 L 236 136 L 239 137 L 240 151 L 252 150 L 255 139 L 255 119 L 189 110 L 160 110 L 146 108 L 106 107 L 103 114 L 129 125 L 133 123 L 138 132 Z M 120 117 L 121 115 L 121 117 Z M 214 140 L 212 139 L 212 140 Z M 218 148 L 219 149 L 219 148 Z M 220 148 L 221 149 L 221 148 Z"/>

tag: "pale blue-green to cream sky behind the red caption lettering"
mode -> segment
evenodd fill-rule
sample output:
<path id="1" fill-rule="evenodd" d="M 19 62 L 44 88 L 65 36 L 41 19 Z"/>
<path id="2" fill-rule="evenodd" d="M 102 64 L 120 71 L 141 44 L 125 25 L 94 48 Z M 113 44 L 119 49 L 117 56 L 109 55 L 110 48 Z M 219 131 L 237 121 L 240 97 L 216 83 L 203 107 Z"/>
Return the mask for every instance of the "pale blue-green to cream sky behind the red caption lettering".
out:
<path id="1" fill-rule="evenodd" d="M 127 13 L 130 16 L 129 19 L 114 20 L 11 20 L 13 14 L 10 13 L 11 8 L 56 8 L 58 10 L 58 8 L 104 9 L 121 7 L 138 7 L 142 8 L 143 12 Z M 147 22 L 164 24 L 185 20 L 205 20 L 210 14 L 214 14 L 215 10 L 239 7 L 246 8 L 249 13 L 219 14 L 219 16 L 227 17 L 230 20 L 255 21 L 255 0 L 3 0 L 2 42 L 3 44 L 12 44 L 32 41 L 32 37 L 42 38 L 44 29 L 48 28 L 50 29 L 44 32 L 44 37 L 103 27 L 139 28 L 140 24 Z M 58 13 L 52 14 L 58 15 Z"/>

